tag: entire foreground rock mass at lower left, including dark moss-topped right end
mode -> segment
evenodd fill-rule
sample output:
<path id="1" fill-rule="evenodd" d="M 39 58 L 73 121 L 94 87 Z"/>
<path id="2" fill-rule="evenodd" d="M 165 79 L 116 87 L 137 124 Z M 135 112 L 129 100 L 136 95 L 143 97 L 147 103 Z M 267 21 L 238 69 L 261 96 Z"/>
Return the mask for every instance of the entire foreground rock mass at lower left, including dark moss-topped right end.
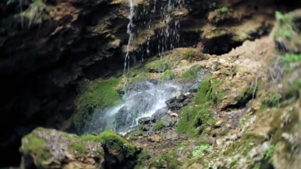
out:
<path id="1" fill-rule="evenodd" d="M 20 152 L 22 169 L 122 169 L 135 164 L 139 151 L 112 131 L 79 137 L 39 127 L 22 138 Z"/>

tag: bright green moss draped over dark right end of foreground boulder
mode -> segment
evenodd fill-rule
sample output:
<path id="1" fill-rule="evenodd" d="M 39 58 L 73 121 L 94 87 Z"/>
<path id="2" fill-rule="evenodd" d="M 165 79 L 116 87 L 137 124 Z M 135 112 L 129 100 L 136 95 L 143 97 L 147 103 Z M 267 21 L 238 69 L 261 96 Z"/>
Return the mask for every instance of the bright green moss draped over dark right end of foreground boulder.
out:
<path id="1" fill-rule="evenodd" d="M 107 149 L 121 153 L 125 157 L 134 157 L 137 152 L 136 147 L 132 143 L 113 131 L 104 131 L 96 136 L 93 141 L 98 141 Z"/>

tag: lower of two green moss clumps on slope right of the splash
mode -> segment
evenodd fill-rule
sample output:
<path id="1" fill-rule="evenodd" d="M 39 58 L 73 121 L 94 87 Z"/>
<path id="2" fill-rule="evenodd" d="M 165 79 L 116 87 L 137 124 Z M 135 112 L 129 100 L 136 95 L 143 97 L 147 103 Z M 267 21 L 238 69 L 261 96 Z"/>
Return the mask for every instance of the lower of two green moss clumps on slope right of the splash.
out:
<path id="1" fill-rule="evenodd" d="M 187 106 L 183 109 L 177 129 L 180 133 L 188 133 L 190 137 L 199 137 L 204 127 L 213 124 L 214 119 L 207 108 Z"/>

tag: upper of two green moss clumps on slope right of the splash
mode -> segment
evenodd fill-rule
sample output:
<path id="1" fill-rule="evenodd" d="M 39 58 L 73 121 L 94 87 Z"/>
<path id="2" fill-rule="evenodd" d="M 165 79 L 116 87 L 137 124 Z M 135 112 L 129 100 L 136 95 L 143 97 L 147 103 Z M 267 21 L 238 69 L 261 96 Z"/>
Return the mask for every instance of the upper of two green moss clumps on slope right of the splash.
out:
<path id="1" fill-rule="evenodd" d="M 222 83 L 210 76 L 204 77 L 196 95 L 196 104 L 219 104 L 224 96 L 224 90 L 218 89 Z"/>

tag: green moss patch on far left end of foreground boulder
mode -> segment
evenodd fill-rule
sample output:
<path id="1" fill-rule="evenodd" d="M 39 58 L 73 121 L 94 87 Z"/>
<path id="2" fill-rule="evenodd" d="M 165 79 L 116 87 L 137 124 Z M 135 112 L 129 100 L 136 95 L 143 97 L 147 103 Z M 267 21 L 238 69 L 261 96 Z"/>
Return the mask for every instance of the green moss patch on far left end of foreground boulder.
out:
<path id="1" fill-rule="evenodd" d="M 33 132 L 37 131 L 34 130 Z M 22 138 L 22 142 L 26 142 L 27 144 L 23 144 L 20 148 L 20 152 L 26 156 L 32 154 L 34 158 L 34 162 L 38 167 L 44 166 L 44 163 L 46 160 L 48 160 L 51 155 L 48 149 L 45 147 L 45 140 L 41 138 L 37 138 L 33 135 L 33 133 L 30 133 Z"/>

